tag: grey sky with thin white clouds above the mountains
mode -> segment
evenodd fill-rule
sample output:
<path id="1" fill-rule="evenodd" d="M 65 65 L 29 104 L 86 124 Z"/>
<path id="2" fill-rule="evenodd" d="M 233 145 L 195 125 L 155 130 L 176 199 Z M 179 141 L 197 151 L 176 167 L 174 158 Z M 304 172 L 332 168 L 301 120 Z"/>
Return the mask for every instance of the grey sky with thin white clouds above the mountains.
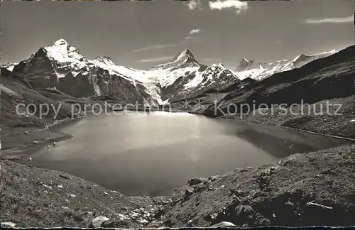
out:
<path id="1" fill-rule="evenodd" d="M 88 58 L 146 69 L 188 48 L 205 65 L 235 69 L 354 45 L 354 2 L 3 1 L 1 63 L 64 38 Z"/>

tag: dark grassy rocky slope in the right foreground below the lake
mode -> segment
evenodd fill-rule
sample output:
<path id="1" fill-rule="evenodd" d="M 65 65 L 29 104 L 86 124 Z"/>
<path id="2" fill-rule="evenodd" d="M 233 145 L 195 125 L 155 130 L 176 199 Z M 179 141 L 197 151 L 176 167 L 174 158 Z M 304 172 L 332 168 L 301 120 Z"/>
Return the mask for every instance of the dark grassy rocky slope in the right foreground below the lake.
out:
<path id="1" fill-rule="evenodd" d="M 275 165 L 193 178 L 175 190 L 165 226 L 354 226 L 354 145 L 291 155 Z"/>

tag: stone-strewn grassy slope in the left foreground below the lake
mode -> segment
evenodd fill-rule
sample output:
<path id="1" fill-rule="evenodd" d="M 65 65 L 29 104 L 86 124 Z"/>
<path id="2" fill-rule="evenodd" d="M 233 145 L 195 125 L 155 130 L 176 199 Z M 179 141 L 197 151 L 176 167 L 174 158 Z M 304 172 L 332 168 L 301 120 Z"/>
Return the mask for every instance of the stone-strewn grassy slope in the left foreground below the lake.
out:
<path id="1" fill-rule="evenodd" d="M 64 172 L 9 160 L 0 169 L 1 222 L 16 227 L 142 228 L 168 202 L 164 197 L 126 197 Z M 94 221 L 100 217 L 104 221 Z"/>

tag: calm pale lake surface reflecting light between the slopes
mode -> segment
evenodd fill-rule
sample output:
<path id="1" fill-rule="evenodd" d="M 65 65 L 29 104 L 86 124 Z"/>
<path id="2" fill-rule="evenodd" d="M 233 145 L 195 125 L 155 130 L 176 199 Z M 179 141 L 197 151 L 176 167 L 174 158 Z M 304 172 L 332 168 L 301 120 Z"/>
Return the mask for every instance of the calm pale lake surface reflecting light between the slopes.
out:
<path id="1" fill-rule="evenodd" d="M 60 131 L 32 165 L 68 172 L 125 195 L 171 195 L 192 177 L 276 163 L 339 145 L 335 138 L 185 113 L 89 115 Z"/>

